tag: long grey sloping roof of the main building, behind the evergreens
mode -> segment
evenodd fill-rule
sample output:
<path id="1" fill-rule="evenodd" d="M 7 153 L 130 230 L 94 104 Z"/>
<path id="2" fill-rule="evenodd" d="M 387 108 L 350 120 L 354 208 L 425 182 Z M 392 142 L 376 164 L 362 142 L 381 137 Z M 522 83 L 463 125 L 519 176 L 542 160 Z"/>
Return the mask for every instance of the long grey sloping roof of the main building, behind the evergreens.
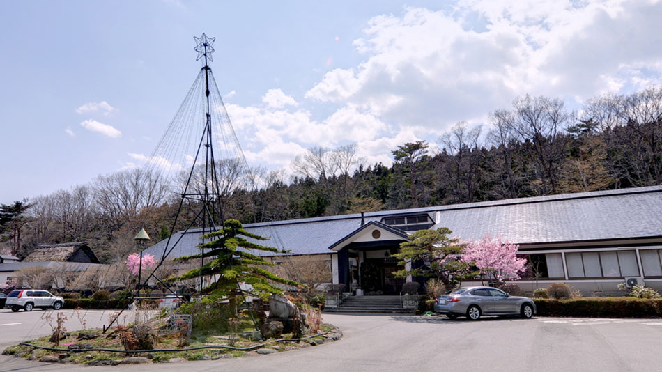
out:
<path id="1" fill-rule="evenodd" d="M 662 241 L 662 186 L 369 212 L 364 221 L 413 214 L 429 215 L 435 221 L 432 228 L 450 228 L 463 240 L 491 233 L 522 248 L 594 240 Z M 245 224 L 244 228 L 271 238 L 261 244 L 289 249 L 291 254 L 329 254 L 334 243 L 361 227 L 361 220 L 360 214 L 338 215 Z M 199 235 L 199 229 L 173 234 L 170 247 L 181 240 L 169 258 L 198 253 Z M 160 257 L 165 244 L 166 240 L 158 242 L 146 253 Z"/>

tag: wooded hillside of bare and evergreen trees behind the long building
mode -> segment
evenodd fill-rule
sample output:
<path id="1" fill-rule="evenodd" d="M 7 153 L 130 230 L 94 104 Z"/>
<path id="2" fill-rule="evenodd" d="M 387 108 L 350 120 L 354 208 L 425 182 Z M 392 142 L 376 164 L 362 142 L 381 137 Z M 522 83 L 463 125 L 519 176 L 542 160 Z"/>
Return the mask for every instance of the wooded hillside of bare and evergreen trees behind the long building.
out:
<path id="1" fill-rule="evenodd" d="M 286 172 L 239 176 L 224 164 L 225 217 L 244 223 L 662 184 L 662 88 L 605 95 L 571 112 L 561 100 L 517 98 L 484 125 L 457 123 L 435 143 L 401 144 L 394 163 L 364 164 L 357 146 L 311 148 Z M 242 178 L 243 182 L 237 182 Z M 5 201 L 3 248 L 87 240 L 105 262 L 169 233 L 178 194 L 155 171 L 99 176 L 46 196 Z M 182 228 L 193 218 L 185 209 Z"/>

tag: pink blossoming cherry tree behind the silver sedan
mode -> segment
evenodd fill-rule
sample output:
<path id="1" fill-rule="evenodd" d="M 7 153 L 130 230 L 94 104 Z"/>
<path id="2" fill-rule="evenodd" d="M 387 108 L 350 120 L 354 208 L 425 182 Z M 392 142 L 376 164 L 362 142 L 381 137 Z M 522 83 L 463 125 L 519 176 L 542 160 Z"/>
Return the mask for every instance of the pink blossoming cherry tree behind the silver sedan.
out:
<path id="1" fill-rule="evenodd" d="M 481 240 L 468 242 L 461 261 L 475 265 L 483 278 L 495 279 L 498 284 L 505 280 L 520 279 L 526 268 L 526 258 L 517 258 L 519 245 L 496 239 L 486 233 Z"/>

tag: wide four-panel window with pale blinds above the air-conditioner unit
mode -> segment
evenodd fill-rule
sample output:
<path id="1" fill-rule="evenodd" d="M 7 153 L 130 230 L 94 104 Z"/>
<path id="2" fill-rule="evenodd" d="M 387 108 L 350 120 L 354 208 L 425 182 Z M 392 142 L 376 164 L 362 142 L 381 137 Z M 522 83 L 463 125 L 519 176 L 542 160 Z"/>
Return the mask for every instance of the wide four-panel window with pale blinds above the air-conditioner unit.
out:
<path id="1" fill-rule="evenodd" d="M 567 253 L 565 262 L 570 279 L 639 276 L 637 254 L 633 250 Z"/>

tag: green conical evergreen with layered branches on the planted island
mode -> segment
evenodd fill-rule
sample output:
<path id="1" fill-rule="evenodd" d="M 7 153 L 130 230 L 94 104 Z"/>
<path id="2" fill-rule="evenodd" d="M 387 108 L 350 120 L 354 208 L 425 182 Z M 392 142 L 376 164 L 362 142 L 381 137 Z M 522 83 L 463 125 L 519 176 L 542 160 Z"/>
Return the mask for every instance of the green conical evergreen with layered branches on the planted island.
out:
<path id="1" fill-rule="evenodd" d="M 275 286 L 273 283 L 302 286 L 296 281 L 279 277 L 268 270 L 260 268 L 259 266 L 272 266 L 274 264 L 248 252 L 257 250 L 287 253 L 288 251 L 255 244 L 244 237 L 254 240 L 268 240 L 268 238 L 245 231 L 241 222 L 236 219 L 227 219 L 222 230 L 203 235 L 205 239 L 216 238 L 216 240 L 198 246 L 201 249 L 206 249 L 206 251 L 194 256 L 177 258 L 178 261 L 190 261 L 203 257 L 211 258 L 211 260 L 200 268 L 190 270 L 179 277 L 169 278 L 168 281 L 215 276 L 217 280 L 210 286 L 203 288 L 203 293 L 229 295 L 232 291 L 240 290 L 239 283 L 245 283 L 252 286 L 253 289 L 250 294 L 256 297 L 268 297 L 270 294 L 283 293 L 282 288 Z"/>

